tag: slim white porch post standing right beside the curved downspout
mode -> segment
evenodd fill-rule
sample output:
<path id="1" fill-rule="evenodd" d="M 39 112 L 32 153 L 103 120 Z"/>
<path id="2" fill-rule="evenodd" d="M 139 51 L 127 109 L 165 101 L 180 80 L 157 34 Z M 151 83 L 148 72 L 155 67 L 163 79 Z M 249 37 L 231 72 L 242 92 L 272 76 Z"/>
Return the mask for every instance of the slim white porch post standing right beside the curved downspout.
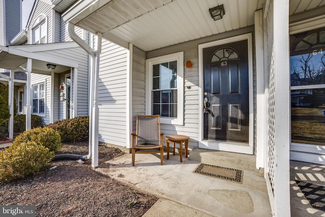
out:
<path id="1" fill-rule="evenodd" d="M 96 50 L 95 50 L 95 70 L 93 76 L 93 108 L 92 108 L 92 157 L 91 167 L 98 167 L 98 143 L 99 143 L 99 107 L 98 107 L 98 85 L 100 71 L 100 54 L 102 50 L 102 34 L 96 34 Z"/>

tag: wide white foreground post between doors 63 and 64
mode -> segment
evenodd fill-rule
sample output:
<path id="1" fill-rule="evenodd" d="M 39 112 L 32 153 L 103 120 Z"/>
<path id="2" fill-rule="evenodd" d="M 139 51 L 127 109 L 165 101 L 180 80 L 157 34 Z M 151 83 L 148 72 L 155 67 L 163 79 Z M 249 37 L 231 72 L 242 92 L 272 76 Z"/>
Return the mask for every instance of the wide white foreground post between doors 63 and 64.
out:
<path id="1" fill-rule="evenodd" d="M 274 0 L 273 11 L 274 150 L 277 158 L 274 175 L 274 212 L 276 216 L 290 216 L 289 0 Z"/>

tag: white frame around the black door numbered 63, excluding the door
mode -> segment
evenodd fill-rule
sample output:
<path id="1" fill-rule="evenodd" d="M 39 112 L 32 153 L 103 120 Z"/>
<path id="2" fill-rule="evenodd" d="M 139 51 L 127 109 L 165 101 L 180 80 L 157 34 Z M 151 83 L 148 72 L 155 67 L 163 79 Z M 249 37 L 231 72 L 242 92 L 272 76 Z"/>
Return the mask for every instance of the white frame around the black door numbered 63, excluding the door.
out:
<path id="1" fill-rule="evenodd" d="M 248 40 L 248 88 L 249 88 L 249 143 L 214 141 L 203 139 L 204 118 L 203 118 L 203 86 L 204 86 L 204 66 L 203 66 L 203 49 L 232 42 Z M 237 153 L 253 154 L 253 57 L 252 57 L 252 34 L 235 36 L 232 38 L 221 39 L 199 45 L 199 148 L 230 151 Z"/>

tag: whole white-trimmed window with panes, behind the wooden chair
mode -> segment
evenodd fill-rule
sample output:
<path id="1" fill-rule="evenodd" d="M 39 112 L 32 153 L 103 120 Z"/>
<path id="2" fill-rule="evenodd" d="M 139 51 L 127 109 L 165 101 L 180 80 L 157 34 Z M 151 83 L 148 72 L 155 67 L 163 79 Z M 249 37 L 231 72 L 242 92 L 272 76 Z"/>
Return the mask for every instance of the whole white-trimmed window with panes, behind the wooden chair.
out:
<path id="1" fill-rule="evenodd" d="M 146 114 L 160 122 L 183 125 L 183 52 L 146 60 Z"/>

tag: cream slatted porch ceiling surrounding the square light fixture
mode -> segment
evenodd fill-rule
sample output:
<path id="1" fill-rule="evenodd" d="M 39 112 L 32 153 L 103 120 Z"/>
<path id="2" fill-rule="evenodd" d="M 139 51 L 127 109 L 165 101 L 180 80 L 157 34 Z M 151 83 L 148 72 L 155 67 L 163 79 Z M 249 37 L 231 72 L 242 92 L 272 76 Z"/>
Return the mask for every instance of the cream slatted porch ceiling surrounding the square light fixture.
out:
<path id="1" fill-rule="evenodd" d="M 132 43 L 149 51 L 253 25 L 254 11 L 266 1 L 92 0 L 87 6 L 77 2 L 62 17 L 121 46 Z M 222 4 L 225 15 L 214 21 L 209 8 Z M 320 0 L 290 1 L 289 15 L 323 5 Z"/>

